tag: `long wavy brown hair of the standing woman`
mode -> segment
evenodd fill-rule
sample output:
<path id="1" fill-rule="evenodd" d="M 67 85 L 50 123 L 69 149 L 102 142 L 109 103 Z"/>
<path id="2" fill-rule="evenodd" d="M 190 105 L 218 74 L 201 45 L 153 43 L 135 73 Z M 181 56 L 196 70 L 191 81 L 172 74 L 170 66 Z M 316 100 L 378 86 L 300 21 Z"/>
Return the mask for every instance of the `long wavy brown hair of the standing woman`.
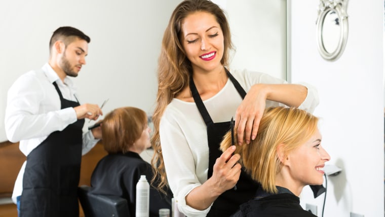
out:
<path id="1" fill-rule="evenodd" d="M 185 0 L 175 8 L 163 35 L 161 54 L 158 60 L 157 104 L 152 117 L 154 132 L 151 140 L 154 154 L 151 165 L 156 174 L 155 177 L 160 176 L 161 182 L 159 188 L 167 184 L 159 135 L 159 124 L 166 106 L 176 95 L 188 87 L 189 84 L 192 67 L 191 62 L 187 59 L 183 50 L 180 37 L 184 18 L 195 12 L 208 12 L 216 17 L 224 38 L 224 51 L 221 59 L 222 65 L 228 65 L 229 51 L 233 48 L 226 16 L 216 4 L 208 0 Z"/>

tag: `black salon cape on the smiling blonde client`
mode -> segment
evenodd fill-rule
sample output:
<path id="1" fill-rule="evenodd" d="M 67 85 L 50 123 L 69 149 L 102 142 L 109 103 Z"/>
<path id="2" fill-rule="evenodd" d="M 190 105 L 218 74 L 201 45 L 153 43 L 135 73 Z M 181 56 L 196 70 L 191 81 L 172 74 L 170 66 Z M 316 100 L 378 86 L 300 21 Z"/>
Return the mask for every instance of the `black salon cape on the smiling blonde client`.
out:
<path id="1" fill-rule="evenodd" d="M 293 194 L 270 195 L 259 200 L 253 199 L 240 205 L 233 217 L 315 217 L 316 215 L 302 209 L 299 198 Z"/>

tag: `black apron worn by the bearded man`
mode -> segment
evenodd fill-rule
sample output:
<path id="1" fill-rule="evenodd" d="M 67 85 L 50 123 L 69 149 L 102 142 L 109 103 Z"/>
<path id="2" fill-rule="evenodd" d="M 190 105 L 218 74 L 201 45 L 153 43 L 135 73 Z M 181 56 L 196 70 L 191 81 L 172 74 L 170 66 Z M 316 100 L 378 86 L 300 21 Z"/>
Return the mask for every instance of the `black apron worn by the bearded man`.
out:
<path id="1" fill-rule="evenodd" d="M 80 105 L 63 98 L 61 109 Z M 76 194 L 82 160 L 84 119 L 51 133 L 27 156 L 20 198 L 20 217 L 79 216 Z"/>

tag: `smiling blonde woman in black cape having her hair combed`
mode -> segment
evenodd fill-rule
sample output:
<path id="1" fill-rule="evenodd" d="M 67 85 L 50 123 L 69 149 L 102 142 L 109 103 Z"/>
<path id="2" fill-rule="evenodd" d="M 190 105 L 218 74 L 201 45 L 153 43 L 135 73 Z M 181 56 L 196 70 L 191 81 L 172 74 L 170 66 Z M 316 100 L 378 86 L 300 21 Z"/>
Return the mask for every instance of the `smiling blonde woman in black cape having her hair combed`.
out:
<path id="1" fill-rule="evenodd" d="M 298 108 L 265 110 L 256 139 L 235 151 L 261 188 L 233 216 L 316 216 L 302 209 L 298 196 L 306 185 L 323 184 L 323 168 L 330 160 L 317 124 L 318 118 Z M 233 143 L 228 132 L 220 149 Z"/>

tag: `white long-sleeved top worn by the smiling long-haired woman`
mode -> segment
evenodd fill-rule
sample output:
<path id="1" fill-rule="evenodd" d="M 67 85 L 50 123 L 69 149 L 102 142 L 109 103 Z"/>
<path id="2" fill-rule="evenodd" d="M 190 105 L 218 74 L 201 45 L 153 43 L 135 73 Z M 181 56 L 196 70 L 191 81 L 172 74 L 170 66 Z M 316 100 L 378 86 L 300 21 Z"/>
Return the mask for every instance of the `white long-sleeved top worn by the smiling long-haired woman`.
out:
<path id="1" fill-rule="evenodd" d="M 246 93 L 252 85 L 285 84 L 284 80 L 263 73 L 247 70 L 232 70 Z M 317 90 L 302 83 L 307 88 L 307 96 L 299 108 L 313 112 L 319 103 Z M 228 122 L 235 117 L 242 97 L 228 79 L 227 83 L 215 96 L 204 100 L 214 123 Z M 282 103 L 267 100 L 266 107 L 285 106 Z M 160 123 L 160 140 L 167 173 L 167 180 L 177 201 L 179 211 L 187 216 L 206 216 L 206 210 L 197 210 L 186 205 L 185 197 L 194 188 L 207 180 L 209 147 L 206 124 L 195 102 L 185 102 L 174 98 L 167 106 Z"/>

